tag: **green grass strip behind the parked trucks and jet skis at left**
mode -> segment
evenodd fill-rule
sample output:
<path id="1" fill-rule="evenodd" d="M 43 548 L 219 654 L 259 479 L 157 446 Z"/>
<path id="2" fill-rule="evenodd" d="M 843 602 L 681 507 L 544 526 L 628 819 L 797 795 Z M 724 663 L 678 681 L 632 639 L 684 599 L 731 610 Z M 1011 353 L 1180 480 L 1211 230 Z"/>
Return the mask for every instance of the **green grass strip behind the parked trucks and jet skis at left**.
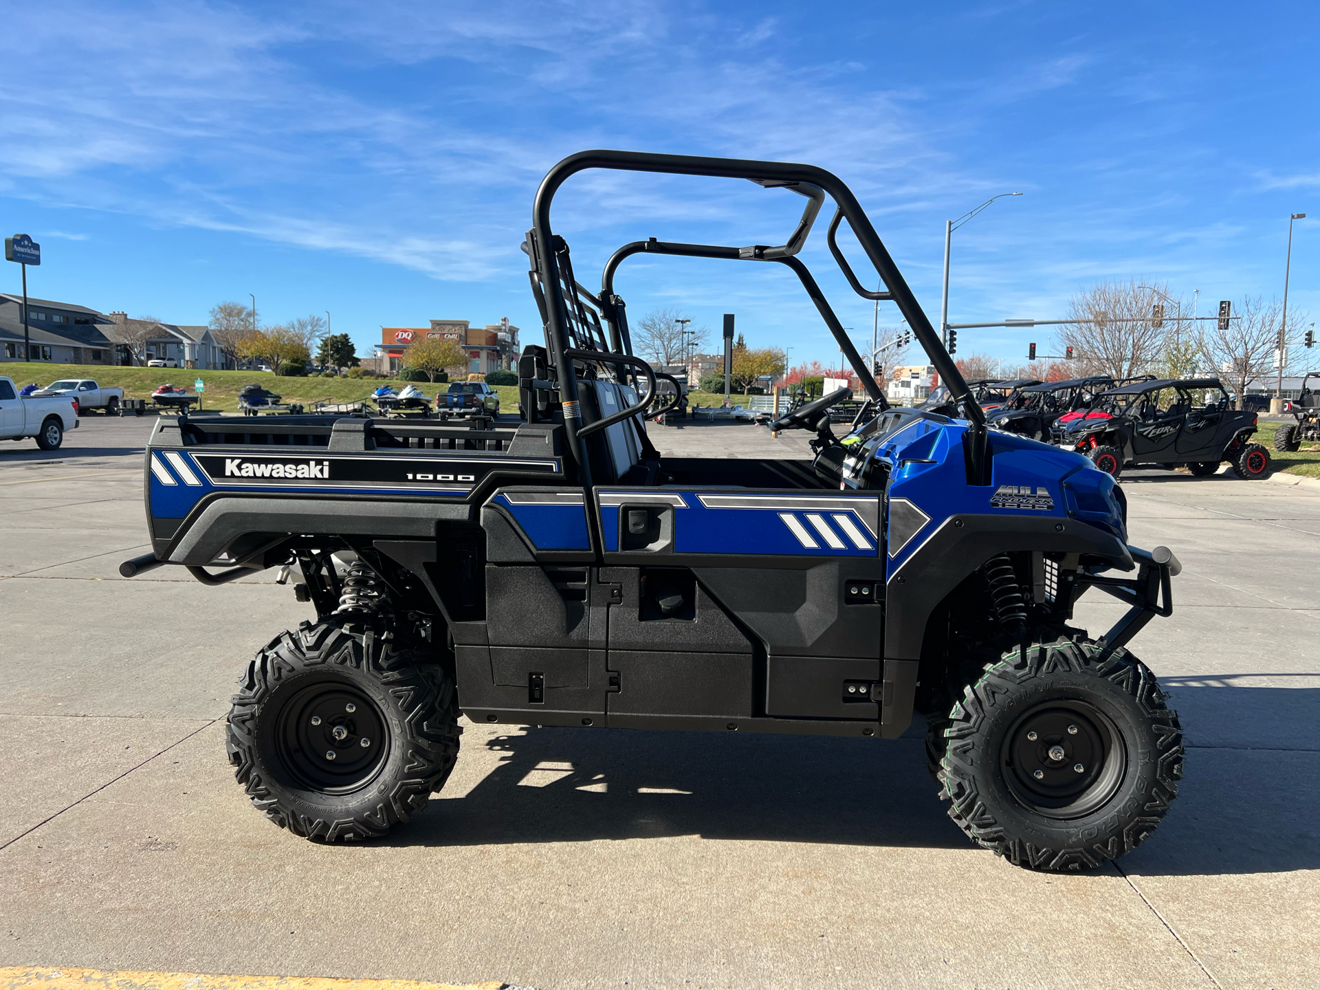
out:
<path id="1" fill-rule="evenodd" d="M 358 403 L 368 399 L 381 385 L 395 389 L 414 384 L 428 396 L 442 392 L 447 385 L 437 381 L 387 381 L 375 378 L 282 378 L 261 371 L 197 371 L 193 368 L 117 368 L 104 364 L 46 364 L 45 362 L 0 363 L 0 375 L 8 375 L 18 387 L 29 381 L 49 385 L 62 378 L 90 378 L 98 384 L 124 389 L 125 399 L 150 399 L 158 385 L 169 381 L 176 388 L 193 391 L 193 381 L 202 379 L 206 384 L 202 392 L 205 409 L 238 412 L 239 389 L 256 383 L 284 397 L 286 403 L 312 403 L 326 400 L 333 403 Z M 500 412 L 517 412 L 517 387 L 495 385 L 499 392 Z"/>

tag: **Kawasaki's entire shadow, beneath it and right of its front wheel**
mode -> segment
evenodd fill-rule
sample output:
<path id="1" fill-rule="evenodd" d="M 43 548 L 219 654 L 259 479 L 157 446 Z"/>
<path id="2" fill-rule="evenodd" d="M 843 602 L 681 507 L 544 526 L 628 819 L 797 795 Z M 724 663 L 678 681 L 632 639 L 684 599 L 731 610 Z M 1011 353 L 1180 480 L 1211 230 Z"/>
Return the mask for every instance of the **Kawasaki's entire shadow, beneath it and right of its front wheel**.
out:
<path id="1" fill-rule="evenodd" d="M 1204 686 L 1203 686 L 1204 685 Z M 1179 797 L 1122 859 L 1142 875 L 1320 869 L 1320 688 L 1170 678 L 1187 733 Z M 385 845 L 701 836 L 964 849 L 925 771 L 924 726 L 898 742 L 791 735 L 511 729 L 496 770 L 433 800 Z M 473 741 L 475 742 L 475 741 Z"/>

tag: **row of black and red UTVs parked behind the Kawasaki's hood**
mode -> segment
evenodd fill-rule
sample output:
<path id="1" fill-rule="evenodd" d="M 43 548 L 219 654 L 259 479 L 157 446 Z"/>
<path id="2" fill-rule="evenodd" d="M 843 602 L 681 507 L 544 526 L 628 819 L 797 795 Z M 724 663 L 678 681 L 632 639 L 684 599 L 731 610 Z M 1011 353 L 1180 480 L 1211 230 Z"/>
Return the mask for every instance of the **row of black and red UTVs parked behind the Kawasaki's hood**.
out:
<path id="1" fill-rule="evenodd" d="M 1251 442 L 1257 413 L 1233 409 L 1229 393 L 1216 378 L 1158 379 L 1142 375 L 1115 381 L 1106 375 L 1067 381 L 974 381 L 969 389 L 994 429 L 1086 454 L 1106 474 L 1118 478 L 1125 467 L 1185 466 L 1192 474 L 1214 474 L 1225 461 L 1241 478 L 1270 473 L 1270 453 Z M 1305 401 L 1304 399 L 1302 400 Z M 953 414 L 946 389 L 927 408 Z M 1280 446 L 1298 442 L 1299 426 Z"/>

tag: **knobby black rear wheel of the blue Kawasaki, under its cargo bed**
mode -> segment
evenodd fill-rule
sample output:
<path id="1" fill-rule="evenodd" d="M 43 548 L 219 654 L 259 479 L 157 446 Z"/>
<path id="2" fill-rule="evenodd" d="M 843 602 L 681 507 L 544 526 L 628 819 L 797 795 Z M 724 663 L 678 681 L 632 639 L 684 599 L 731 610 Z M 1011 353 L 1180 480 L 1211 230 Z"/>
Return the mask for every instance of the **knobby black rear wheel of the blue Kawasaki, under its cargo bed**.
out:
<path id="1" fill-rule="evenodd" d="M 458 756 L 453 677 L 421 649 L 330 618 L 261 649 L 227 748 L 252 805 L 296 836 L 384 836 L 426 807 Z"/>

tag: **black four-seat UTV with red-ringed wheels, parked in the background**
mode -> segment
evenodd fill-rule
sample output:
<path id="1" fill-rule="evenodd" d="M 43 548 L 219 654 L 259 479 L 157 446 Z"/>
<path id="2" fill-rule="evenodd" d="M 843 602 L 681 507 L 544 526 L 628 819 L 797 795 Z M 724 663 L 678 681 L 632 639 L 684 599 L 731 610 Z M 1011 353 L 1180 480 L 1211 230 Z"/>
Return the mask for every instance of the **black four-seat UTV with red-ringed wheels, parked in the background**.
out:
<path id="1" fill-rule="evenodd" d="M 1086 454 L 1118 477 L 1126 465 L 1176 467 L 1214 474 L 1221 462 L 1239 478 L 1270 473 L 1270 451 L 1251 444 L 1254 412 L 1237 412 L 1217 378 L 1134 381 L 1096 396 L 1085 417 L 1063 433 L 1063 446 Z"/>

